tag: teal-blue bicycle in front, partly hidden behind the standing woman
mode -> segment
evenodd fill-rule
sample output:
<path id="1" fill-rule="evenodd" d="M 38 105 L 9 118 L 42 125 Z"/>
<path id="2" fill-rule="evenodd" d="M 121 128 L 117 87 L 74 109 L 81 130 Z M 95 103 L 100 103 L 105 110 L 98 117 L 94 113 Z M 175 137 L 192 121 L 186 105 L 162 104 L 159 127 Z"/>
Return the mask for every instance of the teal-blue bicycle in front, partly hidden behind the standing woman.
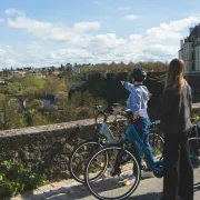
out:
<path id="1" fill-rule="evenodd" d="M 130 119 L 132 113 L 130 110 L 126 110 L 121 114 Z M 130 132 L 132 138 L 122 140 L 119 143 L 109 143 L 98 149 L 88 160 L 84 169 L 86 184 L 97 199 L 122 200 L 131 196 L 141 180 L 141 157 L 157 178 L 163 177 L 163 158 L 152 161 L 149 151 L 131 123 L 127 127 L 127 133 Z M 130 146 L 131 142 L 133 142 L 133 147 Z M 107 154 L 107 160 L 103 160 L 102 154 Z M 129 157 L 128 162 L 121 161 L 124 154 Z M 198 158 L 192 152 L 190 154 L 193 168 L 198 168 Z M 101 163 L 104 164 L 98 166 L 93 160 L 101 160 Z M 101 177 L 97 177 L 100 172 L 102 172 Z M 90 181 L 93 177 L 96 177 L 96 180 Z"/>

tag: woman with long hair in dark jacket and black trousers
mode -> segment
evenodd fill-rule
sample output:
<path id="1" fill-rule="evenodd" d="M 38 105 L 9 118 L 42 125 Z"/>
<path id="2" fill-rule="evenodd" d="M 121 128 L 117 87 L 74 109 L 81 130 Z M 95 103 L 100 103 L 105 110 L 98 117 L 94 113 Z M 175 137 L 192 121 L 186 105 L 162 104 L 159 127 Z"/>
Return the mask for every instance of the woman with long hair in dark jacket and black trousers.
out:
<path id="1" fill-rule="evenodd" d="M 164 133 L 164 177 L 161 200 L 193 200 L 193 169 L 189 157 L 191 88 L 184 79 L 184 62 L 173 59 L 161 98 L 161 129 Z"/>

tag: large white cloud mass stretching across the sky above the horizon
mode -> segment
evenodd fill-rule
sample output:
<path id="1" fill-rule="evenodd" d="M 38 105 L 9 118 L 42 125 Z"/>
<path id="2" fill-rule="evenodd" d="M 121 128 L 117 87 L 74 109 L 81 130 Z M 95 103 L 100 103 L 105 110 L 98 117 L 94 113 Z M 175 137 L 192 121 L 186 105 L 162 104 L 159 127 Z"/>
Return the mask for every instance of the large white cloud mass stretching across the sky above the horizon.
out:
<path id="1" fill-rule="evenodd" d="M 29 32 L 39 41 L 0 46 L 0 64 L 41 67 L 67 62 L 169 61 L 178 56 L 183 32 L 199 20 L 199 17 L 189 17 L 120 38 L 114 33 L 82 32 L 99 29 L 99 22 L 79 22 L 70 28 L 18 16 L 8 19 L 8 26 Z"/>

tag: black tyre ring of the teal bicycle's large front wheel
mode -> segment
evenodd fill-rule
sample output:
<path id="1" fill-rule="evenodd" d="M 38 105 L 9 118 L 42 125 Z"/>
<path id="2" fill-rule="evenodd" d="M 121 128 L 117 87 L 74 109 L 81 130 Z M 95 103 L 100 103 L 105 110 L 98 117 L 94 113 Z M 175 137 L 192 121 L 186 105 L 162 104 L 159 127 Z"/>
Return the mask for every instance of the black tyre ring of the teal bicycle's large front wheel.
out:
<path id="1" fill-rule="evenodd" d="M 136 177 L 136 182 L 132 184 L 132 187 L 130 188 L 130 190 L 128 190 L 126 193 L 123 193 L 123 194 L 121 194 L 121 196 L 118 196 L 118 197 L 113 197 L 113 198 L 110 198 L 110 197 L 102 197 L 102 196 L 100 196 L 98 192 L 96 192 L 94 190 L 93 190 L 93 187 L 91 187 L 91 184 L 94 184 L 96 183 L 96 181 L 93 181 L 93 182 L 91 182 L 90 181 L 90 177 L 89 177 L 89 168 L 90 168 L 90 164 L 92 163 L 92 160 L 93 159 L 96 159 L 96 157 L 97 156 L 99 156 L 100 153 L 102 153 L 102 152 L 107 152 L 108 154 L 109 154 L 109 161 L 111 160 L 110 159 L 110 153 L 108 152 L 109 150 L 124 150 L 127 153 L 129 153 L 129 156 L 133 159 L 133 161 L 134 161 L 134 164 L 136 164 L 136 168 L 137 168 L 137 172 L 138 172 L 138 174 L 137 174 L 137 177 Z M 139 186 L 139 182 L 140 182 L 140 179 L 141 179 L 141 167 L 140 167 L 140 162 L 139 162 L 139 160 L 137 159 L 137 157 L 134 156 L 136 153 L 133 152 L 133 150 L 129 150 L 129 149 L 127 149 L 127 148 L 122 148 L 121 147 L 121 144 L 108 144 L 108 146 L 106 146 L 106 147 L 103 147 L 103 148 L 100 148 L 100 149 L 98 149 L 94 153 L 93 153 L 93 156 L 88 160 L 88 162 L 87 162 L 87 166 L 86 166 L 86 168 L 84 168 L 84 179 L 86 179 L 86 184 L 87 184 L 87 187 L 88 187 L 88 189 L 89 189 L 89 191 L 91 192 L 91 194 L 92 196 L 94 196 L 97 199 L 100 199 L 100 200 L 109 200 L 109 199 L 111 199 L 111 200 L 114 200 L 114 199 L 118 199 L 118 200 L 122 200 L 122 199 L 126 199 L 126 198 L 128 198 L 129 196 L 131 196 L 133 192 L 134 192 L 134 190 L 138 188 L 138 186 Z M 109 164 L 108 164 L 109 166 Z M 131 169 L 133 169 L 133 168 L 131 168 Z M 133 170 L 132 170 L 133 171 Z M 119 177 L 119 174 L 118 174 L 118 177 Z M 99 177 L 100 178 L 100 177 Z M 102 180 L 102 179 L 101 179 Z M 104 179 L 104 180 L 108 180 L 108 181 L 110 181 L 111 179 Z M 104 181 L 103 180 L 103 181 Z M 100 180 L 97 180 L 97 183 L 101 183 L 101 181 Z M 103 183 L 102 182 L 102 184 L 101 184 L 102 187 L 107 187 L 107 186 L 111 186 L 112 187 L 112 189 L 113 190 L 116 190 L 116 188 L 113 187 L 113 184 L 106 184 L 106 183 Z M 100 188 L 100 187 L 96 187 L 96 188 Z M 100 189 L 101 190 L 101 189 Z M 120 189 L 118 189 L 117 190 L 117 193 L 119 192 L 119 190 Z M 110 192 L 110 190 L 108 190 L 108 188 L 107 188 L 107 191 L 109 191 Z M 107 192 L 106 191 L 106 192 Z M 104 191 L 103 191 L 104 192 Z M 114 194 L 116 194 L 116 192 L 113 192 Z"/>

